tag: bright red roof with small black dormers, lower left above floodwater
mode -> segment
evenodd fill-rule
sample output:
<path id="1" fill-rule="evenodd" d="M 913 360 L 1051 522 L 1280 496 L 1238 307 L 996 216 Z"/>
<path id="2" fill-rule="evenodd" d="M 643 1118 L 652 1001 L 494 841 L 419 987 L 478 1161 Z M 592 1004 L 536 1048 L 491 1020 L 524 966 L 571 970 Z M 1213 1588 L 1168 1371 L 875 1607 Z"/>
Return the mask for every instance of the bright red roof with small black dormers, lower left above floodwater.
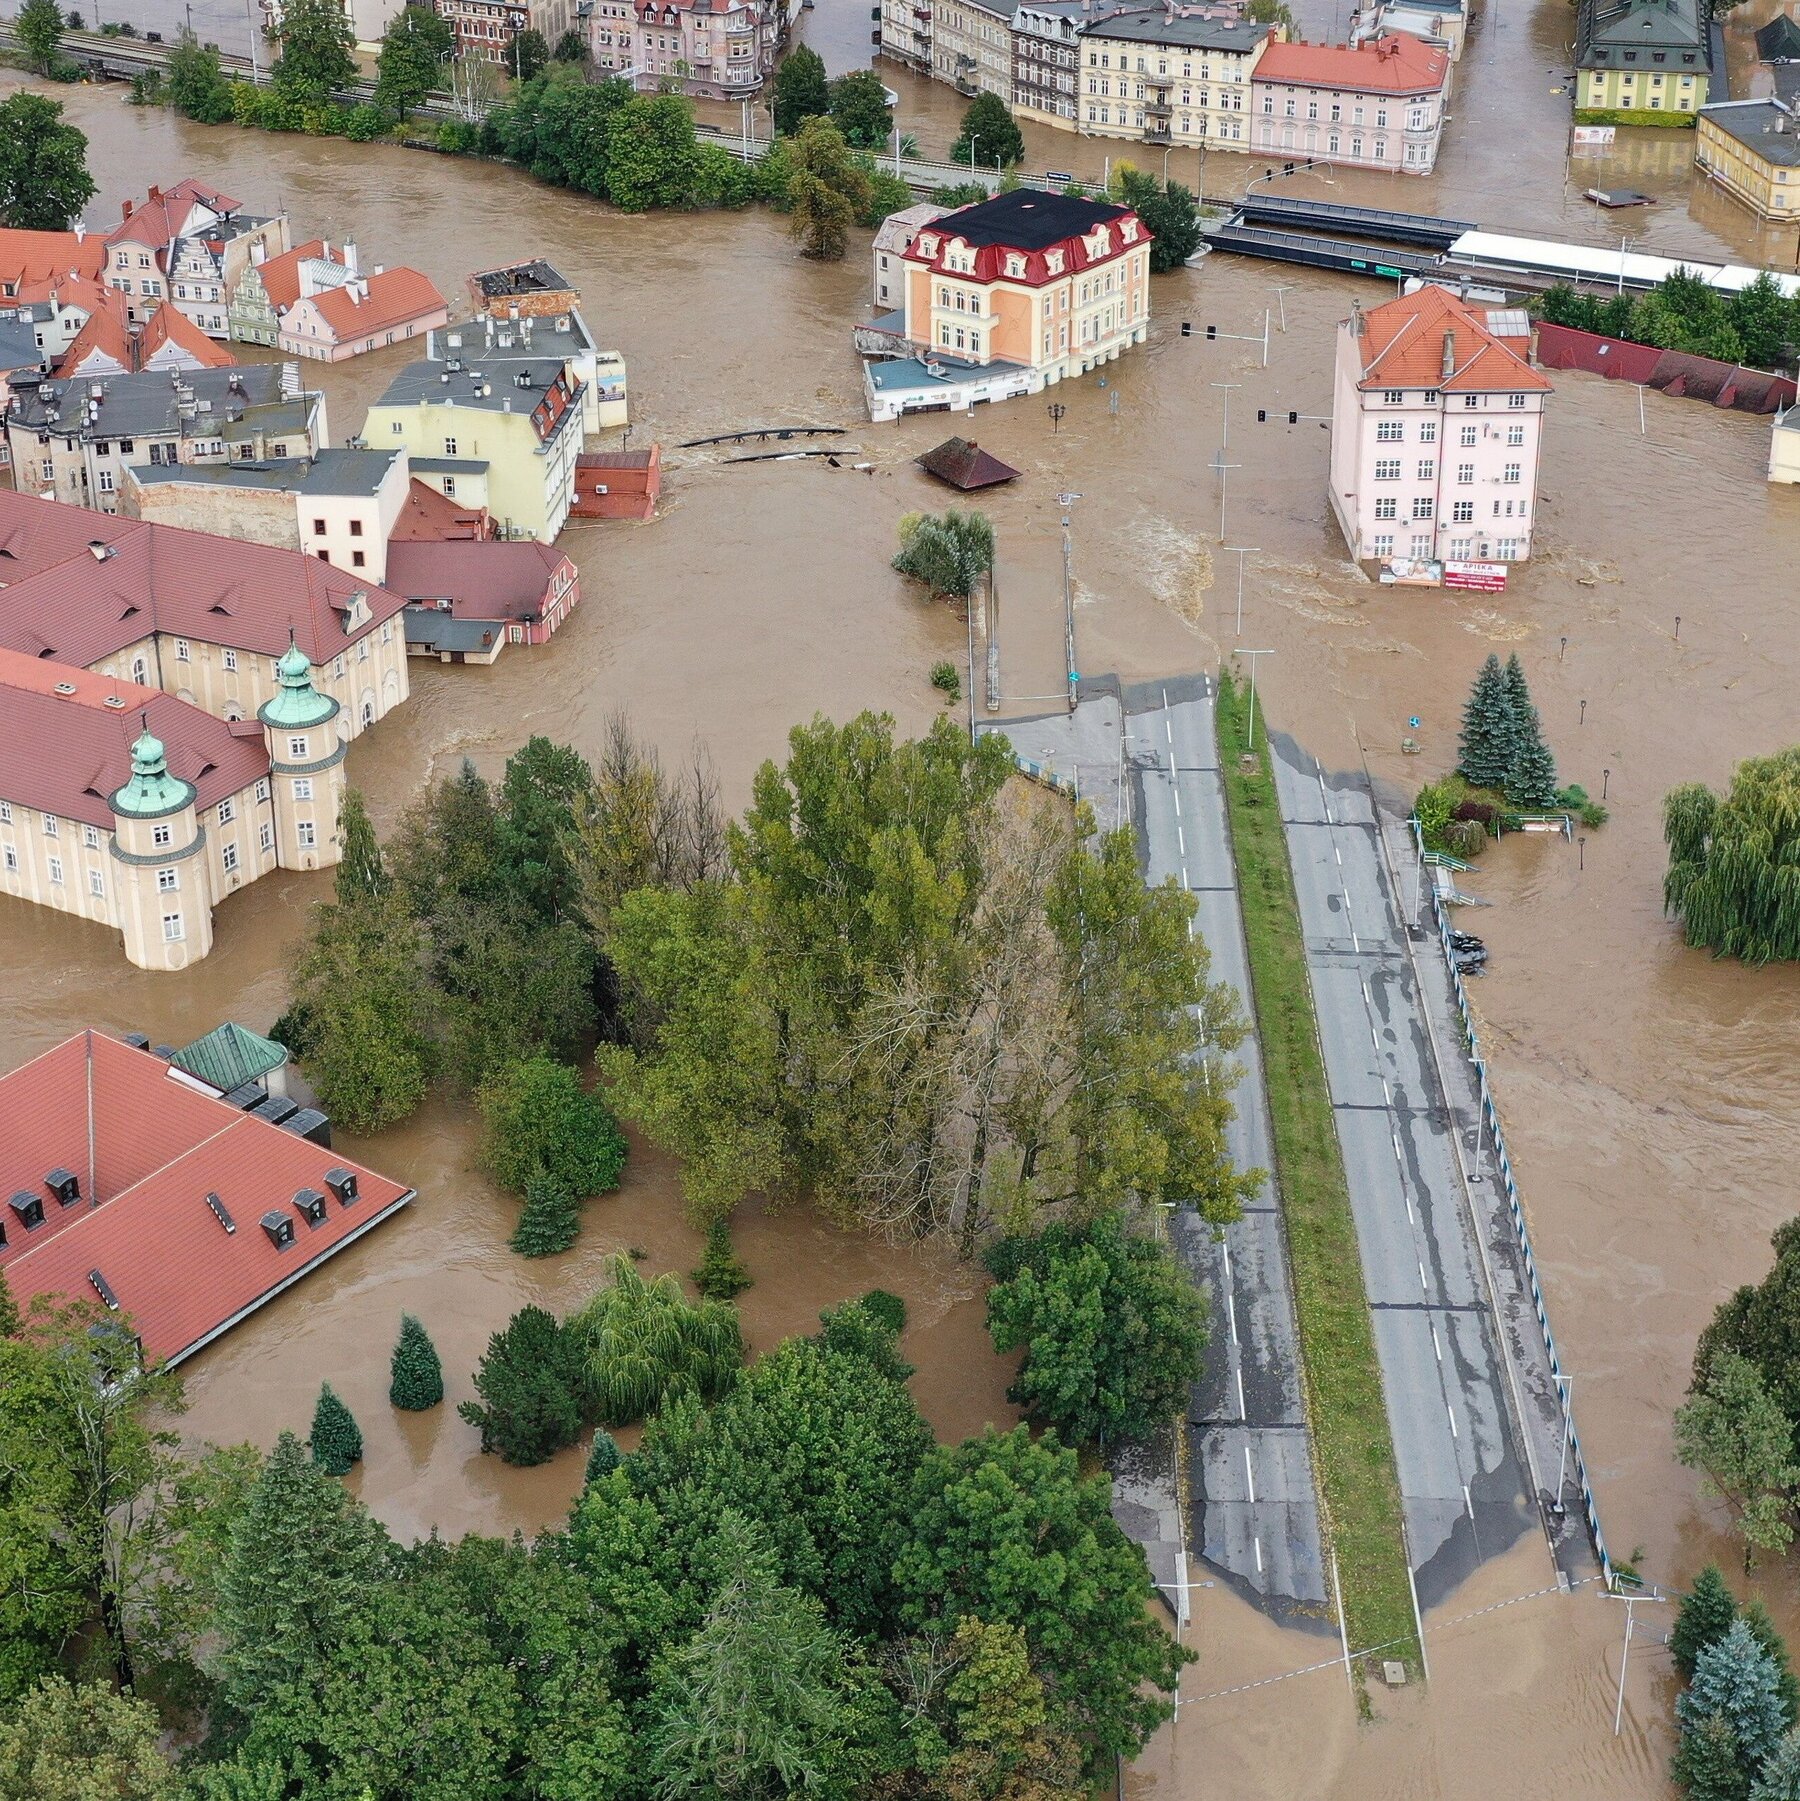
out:
<path id="1" fill-rule="evenodd" d="M 43 1185 L 54 1169 L 79 1180 L 74 1205 Z M 326 1187 L 337 1169 L 357 1178 L 348 1207 Z M 299 1189 L 324 1196 L 321 1225 L 294 1208 Z M 166 1362 L 198 1351 L 413 1199 L 398 1181 L 198 1093 L 160 1057 L 103 1032 L 79 1032 L 0 1077 L 0 1192 L 18 1190 L 45 1210 L 27 1232 L 0 1203 L 0 1273 L 20 1304 L 94 1300 L 97 1273 L 144 1351 Z M 294 1221 L 286 1250 L 259 1225 L 270 1210 Z"/>

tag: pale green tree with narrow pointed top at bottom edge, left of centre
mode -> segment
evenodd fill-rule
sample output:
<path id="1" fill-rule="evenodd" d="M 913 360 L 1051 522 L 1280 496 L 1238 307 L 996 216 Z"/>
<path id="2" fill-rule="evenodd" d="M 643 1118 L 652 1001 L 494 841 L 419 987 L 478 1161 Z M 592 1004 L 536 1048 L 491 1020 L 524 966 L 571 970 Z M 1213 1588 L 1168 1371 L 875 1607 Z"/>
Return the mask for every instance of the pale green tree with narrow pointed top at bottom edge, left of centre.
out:
<path id="1" fill-rule="evenodd" d="M 733 1572 L 650 1691 L 649 1765 L 667 1801 L 694 1794 L 854 1794 L 867 1758 L 843 1643 L 811 1596 L 775 1579 L 764 1536 L 719 1524 Z"/>

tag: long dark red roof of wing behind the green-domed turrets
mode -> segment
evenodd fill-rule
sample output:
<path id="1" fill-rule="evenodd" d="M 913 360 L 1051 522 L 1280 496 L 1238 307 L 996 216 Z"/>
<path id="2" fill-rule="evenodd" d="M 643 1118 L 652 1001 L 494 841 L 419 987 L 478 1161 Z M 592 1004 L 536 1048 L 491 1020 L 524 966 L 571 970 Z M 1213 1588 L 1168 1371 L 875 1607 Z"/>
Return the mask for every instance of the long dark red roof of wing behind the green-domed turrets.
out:
<path id="1" fill-rule="evenodd" d="M 97 558 L 94 542 L 112 555 Z M 301 551 L 5 490 L 0 582 L 0 648 L 83 668 L 151 632 L 279 656 L 292 630 L 301 650 L 324 665 L 405 605 L 386 587 Z M 353 594 L 368 596 L 369 623 L 346 634 Z"/>

